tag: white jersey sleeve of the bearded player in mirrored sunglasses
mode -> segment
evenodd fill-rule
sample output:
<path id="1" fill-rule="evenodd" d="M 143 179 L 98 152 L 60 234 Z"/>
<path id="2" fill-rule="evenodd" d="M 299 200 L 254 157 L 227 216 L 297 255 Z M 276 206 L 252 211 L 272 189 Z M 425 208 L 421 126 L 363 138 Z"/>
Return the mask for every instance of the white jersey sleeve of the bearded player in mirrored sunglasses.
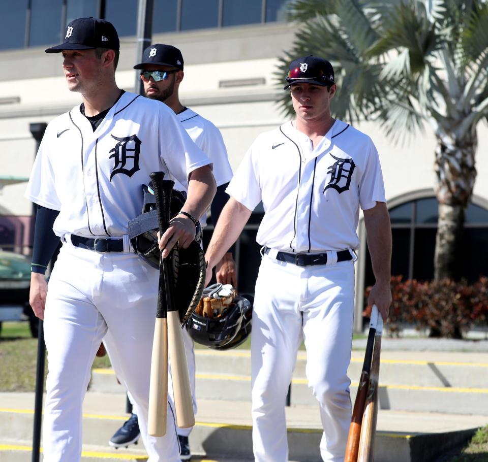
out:
<path id="1" fill-rule="evenodd" d="M 232 168 L 222 134 L 213 123 L 208 122 L 206 124 L 201 134 L 199 146 L 214 164 L 214 177 L 217 186 L 228 183 L 232 178 Z"/>

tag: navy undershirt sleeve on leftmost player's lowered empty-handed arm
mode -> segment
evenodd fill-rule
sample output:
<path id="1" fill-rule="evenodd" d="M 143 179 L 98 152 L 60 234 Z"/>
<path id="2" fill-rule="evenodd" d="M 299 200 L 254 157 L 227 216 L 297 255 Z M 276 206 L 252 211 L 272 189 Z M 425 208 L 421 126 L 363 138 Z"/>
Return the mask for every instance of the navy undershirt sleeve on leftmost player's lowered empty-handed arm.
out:
<path id="1" fill-rule="evenodd" d="M 46 273 L 56 247 L 59 245 L 59 237 L 54 234 L 52 226 L 59 215 L 58 210 L 37 206 L 36 225 L 34 228 L 34 245 L 32 249 L 32 272 Z"/>

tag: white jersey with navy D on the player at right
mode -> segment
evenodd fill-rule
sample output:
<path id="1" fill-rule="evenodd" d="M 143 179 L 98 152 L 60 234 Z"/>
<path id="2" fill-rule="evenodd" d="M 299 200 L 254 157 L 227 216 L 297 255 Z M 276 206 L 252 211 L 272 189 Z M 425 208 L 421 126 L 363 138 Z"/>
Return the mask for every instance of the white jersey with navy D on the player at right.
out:
<path id="1" fill-rule="evenodd" d="M 288 252 L 356 249 L 359 207 L 386 202 L 373 142 L 340 120 L 315 149 L 291 122 L 260 135 L 227 192 L 250 210 L 262 201 L 257 242 Z"/>

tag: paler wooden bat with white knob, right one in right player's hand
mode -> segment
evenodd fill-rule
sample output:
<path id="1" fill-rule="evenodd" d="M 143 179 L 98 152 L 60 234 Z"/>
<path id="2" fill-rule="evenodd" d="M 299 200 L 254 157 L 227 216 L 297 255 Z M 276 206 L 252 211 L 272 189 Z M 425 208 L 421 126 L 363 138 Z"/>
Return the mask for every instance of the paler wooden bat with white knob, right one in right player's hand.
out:
<path id="1" fill-rule="evenodd" d="M 378 316 L 376 325 L 375 347 L 371 360 L 370 385 L 364 413 L 362 415 L 361 436 L 359 438 L 359 453 L 357 462 L 373 462 L 376 421 L 378 417 L 378 382 L 380 377 L 381 335 L 383 334 L 383 318 Z"/>

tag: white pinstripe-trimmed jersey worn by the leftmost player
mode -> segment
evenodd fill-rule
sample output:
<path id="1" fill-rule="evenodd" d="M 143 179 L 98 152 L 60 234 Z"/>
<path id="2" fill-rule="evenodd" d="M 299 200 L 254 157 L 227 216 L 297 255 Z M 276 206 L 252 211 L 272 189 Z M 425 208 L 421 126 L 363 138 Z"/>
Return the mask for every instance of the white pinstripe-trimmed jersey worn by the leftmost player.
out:
<path id="1" fill-rule="evenodd" d="M 59 237 L 123 236 L 142 211 L 141 185 L 151 172 L 186 187 L 207 164 L 171 109 L 126 92 L 95 131 L 80 106 L 47 126 L 25 196 L 60 211 Z"/>

